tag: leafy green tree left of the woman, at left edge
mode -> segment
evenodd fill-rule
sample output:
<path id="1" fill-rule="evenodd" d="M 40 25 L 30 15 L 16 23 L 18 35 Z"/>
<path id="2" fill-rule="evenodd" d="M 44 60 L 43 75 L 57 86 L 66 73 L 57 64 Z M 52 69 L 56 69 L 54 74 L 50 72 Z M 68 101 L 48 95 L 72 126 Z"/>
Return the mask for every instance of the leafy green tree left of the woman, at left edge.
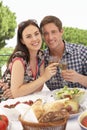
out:
<path id="1" fill-rule="evenodd" d="M 0 2 L 0 48 L 6 45 L 5 40 L 13 38 L 17 26 L 16 16 L 7 6 Z"/>

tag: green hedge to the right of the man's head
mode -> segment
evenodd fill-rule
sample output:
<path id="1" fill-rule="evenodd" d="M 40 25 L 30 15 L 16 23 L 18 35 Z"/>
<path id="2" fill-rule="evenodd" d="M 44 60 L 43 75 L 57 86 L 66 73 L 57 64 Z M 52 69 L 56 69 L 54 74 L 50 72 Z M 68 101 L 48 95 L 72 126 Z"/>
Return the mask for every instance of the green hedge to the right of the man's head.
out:
<path id="1" fill-rule="evenodd" d="M 64 27 L 63 39 L 70 43 L 83 44 L 87 46 L 87 30 Z"/>

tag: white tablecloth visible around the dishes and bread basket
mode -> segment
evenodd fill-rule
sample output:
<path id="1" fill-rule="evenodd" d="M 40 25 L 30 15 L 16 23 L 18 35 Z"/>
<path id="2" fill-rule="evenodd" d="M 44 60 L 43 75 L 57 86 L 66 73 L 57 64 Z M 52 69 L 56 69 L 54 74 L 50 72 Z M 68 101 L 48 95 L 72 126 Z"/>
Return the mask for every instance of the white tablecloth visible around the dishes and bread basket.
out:
<path id="1" fill-rule="evenodd" d="M 44 88 L 41 92 L 38 92 L 38 93 L 35 93 L 35 94 L 30 94 L 28 96 L 24 96 L 24 97 L 20 97 L 20 98 L 16 98 L 16 99 L 8 99 L 7 101 L 3 101 L 1 104 L 0 104 L 0 113 L 5 113 L 8 115 L 9 111 L 7 110 L 7 113 L 6 113 L 6 109 L 3 108 L 3 105 L 5 104 L 11 104 L 11 103 L 15 103 L 17 101 L 27 101 L 27 100 L 36 100 L 38 98 L 42 98 L 44 100 L 49 100 L 49 101 L 52 101 L 53 100 L 53 97 L 51 97 L 51 91 L 46 87 L 46 85 L 44 85 Z M 11 113 L 11 112 L 10 112 Z M 14 115 L 14 111 L 13 111 L 13 115 L 10 115 L 10 116 L 15 116 Z M 17 121 L 12 121 L 11 118 L 12 117 L 9 117 L 8 115 L 8 118 L 10 120 L 10 125 L 8 127 L 8 130 L 23 130 L 20 122 L 17 120 Z M 18 117 L 16 117 L 18 118 Z M 69 119 L 68 122 L 67 122 L 67 126 L 66 126 L 66 130 L 81 130 L 80 126 L 79 126 L 79 123 L 78 123 L 78 115 Z"/>

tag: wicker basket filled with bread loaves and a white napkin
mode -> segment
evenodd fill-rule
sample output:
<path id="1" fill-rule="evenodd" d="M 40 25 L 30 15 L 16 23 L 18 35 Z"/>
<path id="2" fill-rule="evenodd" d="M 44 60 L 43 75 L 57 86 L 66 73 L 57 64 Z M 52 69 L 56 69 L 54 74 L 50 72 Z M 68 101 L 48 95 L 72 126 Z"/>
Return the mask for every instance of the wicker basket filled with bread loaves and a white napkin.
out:
<path id="1" fill-rule="evenodd" d="M 55 106 L 59 106 L 58 109 Z M 65 130 L 69 113 L 60 102 L 43 104 L 37 100 L 25 114 L 19 116 L 24 130 Z"/>

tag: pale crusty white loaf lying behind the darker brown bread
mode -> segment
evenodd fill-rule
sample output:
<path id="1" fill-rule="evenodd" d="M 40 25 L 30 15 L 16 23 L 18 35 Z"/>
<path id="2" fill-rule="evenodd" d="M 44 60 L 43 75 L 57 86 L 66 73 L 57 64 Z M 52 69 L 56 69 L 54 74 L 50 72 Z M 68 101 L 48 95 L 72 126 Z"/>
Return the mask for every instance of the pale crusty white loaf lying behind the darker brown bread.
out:
<path id="1" fill-rule="evenodd" d="M 36 100 L 31 106 L 38 120 L 44 114 L 47 114 L 49 112 L 60 111 L 64 107 L 65 107 L 65 103 L 62 100 L 43 103 L 41 99 Z"/>

